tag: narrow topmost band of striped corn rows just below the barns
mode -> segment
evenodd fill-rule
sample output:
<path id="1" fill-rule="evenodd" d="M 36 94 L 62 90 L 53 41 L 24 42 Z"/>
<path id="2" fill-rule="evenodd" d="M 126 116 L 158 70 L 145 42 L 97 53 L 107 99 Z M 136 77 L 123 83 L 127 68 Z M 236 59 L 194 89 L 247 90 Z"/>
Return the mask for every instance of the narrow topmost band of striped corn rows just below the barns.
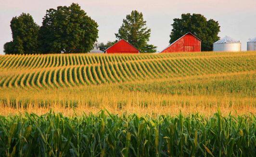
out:
<path id="1" fill-rule="evenodd" d="M 5 55 L 0 56 L 0 68 L 5 69 L 39 69 L 75 65 L 105 65 L 117 62 L 149 61 L 191 57 L 250 57 L 255 53 L 170 53 L 170 54 L 114 54 L 114 55 L 87 55 L 87 54 L 49 54 L 49 55 Z M 238 63 L 238 62 L 237 62 Z M 186 64 L 184 62 L 184 64 Z M 235 63 L 234 63 L 235 64 Z"/>

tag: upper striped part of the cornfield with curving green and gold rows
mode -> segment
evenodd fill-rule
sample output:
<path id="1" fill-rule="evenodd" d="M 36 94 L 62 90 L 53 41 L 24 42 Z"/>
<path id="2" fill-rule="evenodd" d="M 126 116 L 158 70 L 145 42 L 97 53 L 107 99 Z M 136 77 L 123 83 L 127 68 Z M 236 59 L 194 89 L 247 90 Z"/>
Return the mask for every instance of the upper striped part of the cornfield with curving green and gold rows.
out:
<path id="1" fill-rule="evenodd" d="M 0 56 L 1 88 L 60 88 L 256 70 L 256 53 Z"/>

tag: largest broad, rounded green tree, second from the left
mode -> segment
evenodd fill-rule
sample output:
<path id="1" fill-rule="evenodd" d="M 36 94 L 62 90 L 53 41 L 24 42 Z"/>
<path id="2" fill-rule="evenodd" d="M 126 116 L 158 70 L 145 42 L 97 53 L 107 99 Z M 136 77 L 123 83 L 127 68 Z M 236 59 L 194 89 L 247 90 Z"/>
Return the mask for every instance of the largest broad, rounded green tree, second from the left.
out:
<path id="1" fill-rule="evenodd" d="M 44 53 L 88 52 L 97 38 L 98 24 L 76 3 L 47 10 L 39 31 Z"/>

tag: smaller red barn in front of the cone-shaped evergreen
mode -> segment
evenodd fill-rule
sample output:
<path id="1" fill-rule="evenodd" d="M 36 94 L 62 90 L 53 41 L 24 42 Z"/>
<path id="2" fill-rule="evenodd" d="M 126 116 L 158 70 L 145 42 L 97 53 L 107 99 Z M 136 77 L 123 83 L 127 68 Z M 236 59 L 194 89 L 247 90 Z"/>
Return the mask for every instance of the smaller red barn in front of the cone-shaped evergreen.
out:
<path id="1" fill-rule="evenodd" d="M 111 47 L 107 48 L 105 53 L 140 53 L 140 50 L 135 48 L 128 41 L 121 39 Z"/>

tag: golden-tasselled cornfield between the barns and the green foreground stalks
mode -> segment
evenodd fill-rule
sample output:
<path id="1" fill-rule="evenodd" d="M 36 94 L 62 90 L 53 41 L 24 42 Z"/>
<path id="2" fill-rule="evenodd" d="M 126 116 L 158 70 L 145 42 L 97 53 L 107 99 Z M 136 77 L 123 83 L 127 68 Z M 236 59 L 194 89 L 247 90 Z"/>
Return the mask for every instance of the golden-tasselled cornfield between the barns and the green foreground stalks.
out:
<path id="1" fill-rule="evenodd" d="M 0 56 L 0 114 L 255 114 L 255 59 L 256 52 Z"/>

